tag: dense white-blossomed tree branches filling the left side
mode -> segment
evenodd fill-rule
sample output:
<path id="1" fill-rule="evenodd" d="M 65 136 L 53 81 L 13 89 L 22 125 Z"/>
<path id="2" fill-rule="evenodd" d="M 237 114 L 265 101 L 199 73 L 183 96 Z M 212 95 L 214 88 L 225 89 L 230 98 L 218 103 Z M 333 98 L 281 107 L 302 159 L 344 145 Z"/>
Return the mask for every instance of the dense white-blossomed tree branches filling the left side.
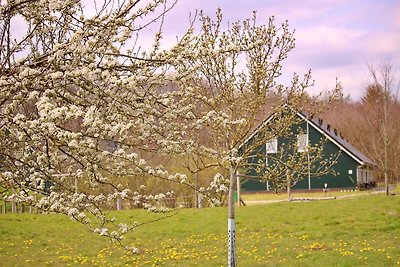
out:
<path id="1" fill-rule="evenodd" d="M 140 39 L 174 4 L 1 4 L 3 199 L 67 214 L 119 242 L 136 225 L 110 217 L 107 203 L 130 199 L 164 211 L 157 202 L 171 192 L 143 195 L 124 180 L 151 176 L 187 184 L 185 175 L 140 157 L 141 151 L 181 153 L 186 145 L 181 135 L 190 106 L 162 87 L 175 79 L 166 73 L 191 41 L 191 29 L 170 50 L 160 48 L 161 32 L 148 49 Z"/>

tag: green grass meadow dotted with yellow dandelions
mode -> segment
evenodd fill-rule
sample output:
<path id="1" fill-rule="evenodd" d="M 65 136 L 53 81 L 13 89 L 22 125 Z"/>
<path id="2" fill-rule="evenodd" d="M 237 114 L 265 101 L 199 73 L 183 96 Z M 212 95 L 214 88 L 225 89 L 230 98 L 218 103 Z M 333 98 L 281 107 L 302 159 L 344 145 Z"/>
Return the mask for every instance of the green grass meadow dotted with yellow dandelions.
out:
<path id="1" fill-rule="evenodd" d="M 156 215 L 115 212 L 120 220 Z M 0 215 L 0 266 L 226 266 L 226 208 L 185 209 L 121 247 L 62 215 Z M 400 197 L 360 196 L 236 209 L 239 266 L 400 265 Z"/>

